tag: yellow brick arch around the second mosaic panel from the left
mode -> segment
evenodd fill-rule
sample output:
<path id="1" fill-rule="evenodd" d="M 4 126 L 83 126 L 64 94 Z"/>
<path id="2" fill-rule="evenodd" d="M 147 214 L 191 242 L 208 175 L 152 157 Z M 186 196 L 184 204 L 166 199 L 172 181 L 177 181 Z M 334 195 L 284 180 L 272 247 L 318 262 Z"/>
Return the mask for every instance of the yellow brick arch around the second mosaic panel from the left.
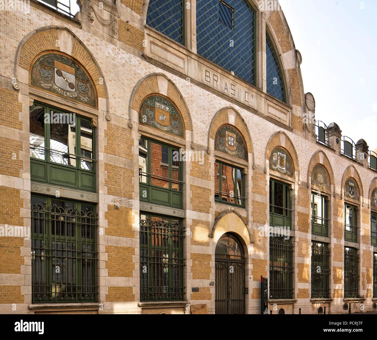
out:
<path id="1" fill-rule="evenodd" d="M 192 132 L 191 141 L 193 141 L 192 119 L 187 104 L 181 92 L 178 90 L 178 87 L 163 73 L 151 73 L 146 75 L 133 87 L 129 103 L 130 127 L 132 127 L 131 112 L 134 111 L 134 115 L 136 112 L 136 116 L 138 116 L 140 106 L 143 104 L 143 99 L 152 93 L 160 93 L 175 104 L 183 118 L 185 130 Z"/>

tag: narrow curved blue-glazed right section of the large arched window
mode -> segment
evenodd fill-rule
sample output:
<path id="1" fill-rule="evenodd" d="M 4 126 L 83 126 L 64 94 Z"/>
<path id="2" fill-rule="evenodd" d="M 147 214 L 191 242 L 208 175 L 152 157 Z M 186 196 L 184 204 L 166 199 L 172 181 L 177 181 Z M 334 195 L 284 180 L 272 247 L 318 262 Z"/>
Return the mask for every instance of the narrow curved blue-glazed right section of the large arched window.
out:
<path id="1" fill-rule="evenodd" d="M 266 32 L 266 57 L 267 57 L 267 93 L 285 102 L 285 91 L 282 73 L 270 37 Z"/>

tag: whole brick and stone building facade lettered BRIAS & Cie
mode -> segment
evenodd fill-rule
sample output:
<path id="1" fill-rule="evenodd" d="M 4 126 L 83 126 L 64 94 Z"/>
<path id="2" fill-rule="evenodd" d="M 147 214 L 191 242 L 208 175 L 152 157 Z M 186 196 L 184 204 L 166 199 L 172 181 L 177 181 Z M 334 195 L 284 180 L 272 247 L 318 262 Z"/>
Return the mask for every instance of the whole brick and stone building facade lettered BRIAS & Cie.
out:
<path id="1" fill-rule="evenodd" d="M 1 313 L 376 309 L 377 155 L 277 2 L 208 3 L 0 11 Z"/>

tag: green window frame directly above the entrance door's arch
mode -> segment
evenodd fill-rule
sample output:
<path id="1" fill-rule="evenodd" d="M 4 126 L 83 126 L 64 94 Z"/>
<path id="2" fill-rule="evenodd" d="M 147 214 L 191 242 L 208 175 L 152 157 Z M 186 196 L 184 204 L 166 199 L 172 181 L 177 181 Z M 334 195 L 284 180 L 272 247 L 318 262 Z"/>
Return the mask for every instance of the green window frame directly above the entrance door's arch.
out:
<path id="1" fill-rule="evenodd" d="M 216 181 L 216 178 L 218 177 L 219 178 L 219 190 L 216 190 L 216 185 L 215 185 L 215 201 L 219 202 L 219 203 L 223 203 L 223 204 L 228 204 L 228 205 L 233 205 L 233 206 L 236 206 L 236 207 L 244 208 L 246 198 L 244 197 L 244 195 L 245 195 L 245 176 L 242 173 L 243 169 L 236 167 L 234 165 L 230 165 L 230 164 L 221 162 L 221 161 L 216 161 L 215 164 L 216 163 L 219 164 L 219 172 L 218 172 L 218 174 L 215 173 L 215 181 Z M 223 181 L 222 180 L 220 181 L 220 178 L 224 179 L 224 177 L 223 177 L 223 166 L 230 167 L 232 174 L 233 174 L 233 172 L 235 174 L 237 174 L 237 176 L 234 176 L 232 178 L 233 188 L 235 188 L 237 192 L 227 193 L 227 192 L 222 191 L 223 190 L 223 188 L 222 188 Z M 215 165 L 215 169 L 216 169 L 216 165 Z M 241 185 L 238 184 L 238 176 L 241 176 L 241 179 L 240 179 Z M 225 176 L 225 179 L 226 179 L 226 176 Z M 234 203 L 229 202 L 230 199 L 234 199 Z"/>

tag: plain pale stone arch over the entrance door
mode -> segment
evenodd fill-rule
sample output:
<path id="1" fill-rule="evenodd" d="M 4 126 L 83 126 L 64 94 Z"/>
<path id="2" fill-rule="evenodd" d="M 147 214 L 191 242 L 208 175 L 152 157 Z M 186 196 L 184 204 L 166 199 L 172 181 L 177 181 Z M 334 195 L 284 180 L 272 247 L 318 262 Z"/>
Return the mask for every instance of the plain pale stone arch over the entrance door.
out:
<path id="1" fill-rule="evenodd" d="M 234 210 L 224 211 L 216 217 L 211 233 L 208 237 L 213 238 L 215 244 L 217 244 L 220 237 L 225 233 L 237 234 L 244 245 L 253 243 L 247 223 L 241 215 Z M 245 257 L 247 257 L 246 254 Z"/>

